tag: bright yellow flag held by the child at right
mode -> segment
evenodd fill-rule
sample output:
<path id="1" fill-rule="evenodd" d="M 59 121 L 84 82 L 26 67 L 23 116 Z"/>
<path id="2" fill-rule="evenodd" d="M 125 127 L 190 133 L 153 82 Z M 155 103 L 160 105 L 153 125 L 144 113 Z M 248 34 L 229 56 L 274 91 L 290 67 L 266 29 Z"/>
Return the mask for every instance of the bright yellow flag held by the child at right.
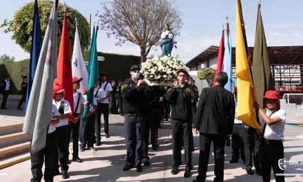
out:
<path id="1" fill-rule="evenodd" d="M 253 80 L 249 67 L 249 52 L 242 17 L 241 1 L 237 0 L 236 7 L 236 72 L 238 90 L 238 118 L 247 125 L 260 129 L 257 122 L 253 103 L 256 102 Z"/>

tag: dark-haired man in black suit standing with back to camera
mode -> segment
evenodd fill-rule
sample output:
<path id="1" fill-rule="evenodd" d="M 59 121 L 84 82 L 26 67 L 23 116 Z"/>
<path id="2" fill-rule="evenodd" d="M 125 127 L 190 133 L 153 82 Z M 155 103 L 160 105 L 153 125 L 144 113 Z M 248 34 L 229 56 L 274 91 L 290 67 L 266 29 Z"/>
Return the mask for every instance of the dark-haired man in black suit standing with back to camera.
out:
<path id="1" fill-rule="evenodd" d="M 213 88 L 204 88 L 200 96 L 193 130 L 196 134 L 200 132 L 198 176 L 194 181 L 206 179 L 211 141 L 215 153 L 214 181 L 224 180 L 224 145 L 226 135 L 233 130 L 235 117 L 233 94 L 224 89 L 227 79 L 226 72 L 219 72 L 215 79 L 216 85 Z"/>

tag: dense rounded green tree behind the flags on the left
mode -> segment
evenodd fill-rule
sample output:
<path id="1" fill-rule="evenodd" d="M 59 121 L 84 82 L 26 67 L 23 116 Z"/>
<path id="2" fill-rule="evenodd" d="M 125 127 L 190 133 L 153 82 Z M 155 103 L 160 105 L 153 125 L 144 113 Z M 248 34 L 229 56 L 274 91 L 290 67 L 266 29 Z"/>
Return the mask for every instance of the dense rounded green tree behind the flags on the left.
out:
<path id="1" fill-rule="evenodd" d="M 48 26 L 48 19 L 52 10 L 53 1 L 43 0 L 39 1 L 39 15 L 41 23 L 41 34 L 42 39 L 45 34 L 45 30 Z M 61 31 L 63 27 L 63 4 L 59 3 L 58 6 L 58 47 L 61 40 Z M 75 17 L 78 21 L 79 37 L 83 49 L 88 48 L 90 45 L 90 24 L 87 22 L 85 17 L 70 6 L 66 7 L 68 30 L 70 34 L 70 46 L 73 48 L 74 44 L 74 32 L 76 31 Z M 25 6 L 17 10 L 14 14 L 12 21 L 5 19 L 1 24 L 1 28 L 6 28 L 3 32 L 13 32 L 12 39 L 25 50 L 30 52 L 30 45 L 32 43 L 32 23 L 34 16 L 34 2 L 27 3 Z M 59 49 L 58 49 L 59 50 Z"/>

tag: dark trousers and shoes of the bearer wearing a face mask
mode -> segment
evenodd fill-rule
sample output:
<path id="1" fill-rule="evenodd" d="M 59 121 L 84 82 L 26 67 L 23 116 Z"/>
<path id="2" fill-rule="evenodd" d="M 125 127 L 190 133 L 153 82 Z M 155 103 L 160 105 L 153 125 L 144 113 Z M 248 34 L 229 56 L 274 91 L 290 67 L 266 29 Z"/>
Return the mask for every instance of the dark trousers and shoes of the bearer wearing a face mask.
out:
<path id="1" fill-rule="evenodd" d="M 124 115 L 125 145 L 127 165 L 139 166 L 143 157 L 143 116 Z"/>

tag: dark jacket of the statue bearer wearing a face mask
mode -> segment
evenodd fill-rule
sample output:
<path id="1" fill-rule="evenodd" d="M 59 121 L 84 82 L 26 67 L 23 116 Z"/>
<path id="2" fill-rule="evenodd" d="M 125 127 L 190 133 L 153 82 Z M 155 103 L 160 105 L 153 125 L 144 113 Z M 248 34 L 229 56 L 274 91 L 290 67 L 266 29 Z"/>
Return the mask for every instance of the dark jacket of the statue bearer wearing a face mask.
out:
<path id="1" fill-rule="evenodd" d="M 137 83 L 126 79 L 122 84 L 123 112 L 129 114 L 143 114 L 144 88 L 136 88 Z"/>

